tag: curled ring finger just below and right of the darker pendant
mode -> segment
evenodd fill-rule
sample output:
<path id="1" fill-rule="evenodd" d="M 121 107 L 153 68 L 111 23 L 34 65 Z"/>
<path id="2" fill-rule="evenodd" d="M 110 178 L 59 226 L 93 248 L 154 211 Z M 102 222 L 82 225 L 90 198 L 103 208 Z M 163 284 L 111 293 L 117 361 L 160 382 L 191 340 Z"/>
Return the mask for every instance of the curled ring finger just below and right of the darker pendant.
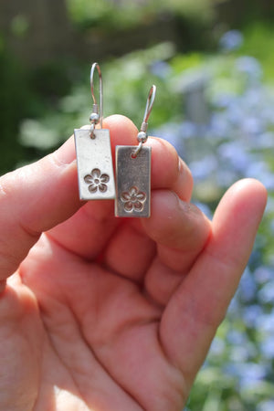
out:
<path id="1" fill-rule="evenodd" d="M 195 205 L 185 203 L 174 192 L 157 190 L 152 217 L 142 225 L 157 244 L 157 258 L 145 276 L 145 290 L 164 306 L 205 248 L 211 223 Z"/>

